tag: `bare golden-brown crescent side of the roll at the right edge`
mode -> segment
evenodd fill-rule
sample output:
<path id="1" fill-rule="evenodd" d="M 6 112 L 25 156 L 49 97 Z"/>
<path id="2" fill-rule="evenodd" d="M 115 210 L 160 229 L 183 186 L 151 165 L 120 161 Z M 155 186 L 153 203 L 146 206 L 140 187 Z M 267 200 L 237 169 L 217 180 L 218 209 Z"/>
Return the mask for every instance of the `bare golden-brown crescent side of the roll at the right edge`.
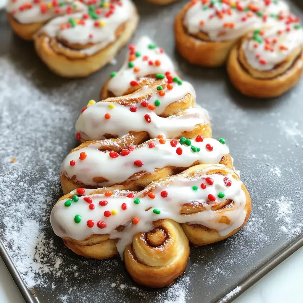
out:
<path id="1" fill-rule="evenodd" d="M 303 72 L 303 53 L 295 49 L 281 65 L 270 72 L 260 72 L 248 65 L 241 44 L 235 45 L 227 62 L 227 72 L 231 83 L 242 94 L 250 97 L 273 98 L 294 87 Z"/>

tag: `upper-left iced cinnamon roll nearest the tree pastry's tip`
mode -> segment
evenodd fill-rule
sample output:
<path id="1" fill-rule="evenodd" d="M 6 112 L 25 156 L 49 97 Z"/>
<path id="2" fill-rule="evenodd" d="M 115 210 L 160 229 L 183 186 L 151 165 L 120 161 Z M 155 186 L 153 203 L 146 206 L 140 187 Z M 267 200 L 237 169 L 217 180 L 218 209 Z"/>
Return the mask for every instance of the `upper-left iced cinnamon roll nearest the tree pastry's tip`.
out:
<path id="1" fill-rule="evenodd" d="M 110 63 L 131 38 L 138 23 L 131 0 L 101 3 L 54 18 L 34 36 L 37 54 L 56 74 L 88 76 Z"/>

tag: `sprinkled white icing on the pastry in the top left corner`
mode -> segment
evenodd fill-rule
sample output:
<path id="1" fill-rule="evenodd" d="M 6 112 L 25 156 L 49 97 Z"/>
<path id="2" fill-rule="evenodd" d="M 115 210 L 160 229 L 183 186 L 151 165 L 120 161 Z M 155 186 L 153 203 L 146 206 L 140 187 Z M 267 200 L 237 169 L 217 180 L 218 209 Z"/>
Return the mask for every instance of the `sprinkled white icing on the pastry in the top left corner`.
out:
<path id="1" fill-rule="evenodd" d="M 7 12 L 23 24 L 45 22 L 58 15 L 71 14 L 84 9 L 85 5 L 75 0 L 9 0 L 6 8 Z"/>

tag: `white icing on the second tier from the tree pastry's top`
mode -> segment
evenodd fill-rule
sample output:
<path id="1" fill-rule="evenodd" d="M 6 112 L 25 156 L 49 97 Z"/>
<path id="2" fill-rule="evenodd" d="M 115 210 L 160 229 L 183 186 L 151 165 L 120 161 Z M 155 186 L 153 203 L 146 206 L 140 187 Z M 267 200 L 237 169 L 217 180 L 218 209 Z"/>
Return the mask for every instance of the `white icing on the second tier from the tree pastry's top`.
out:
<path id="1" fill-rule="evenodd" d="M 131 112 L 129 106 L 123 106 L 113 102 L 97 102 L 88 107 L 76 121 L 76 133 L 80 133 L 84 140 L 100 140 L 105 139 L 104 134 L 118 135 L 122 137 L 128 132 L 148 132 L 151 138 L 156 138 L 158 135 L 163 135 L 165 138 L 175 138 L 184 131 L 192 131 L 196 124 L 207 124 L 209 122 L 208 112 L 203 108 L 188 108 L 180 111 L 168 118 L 162 118 L 158 115 L 163 112 L 163 109 L 190 93 L 195 98 L 195 91 L 188 82 L 182 82 L 181 85 L 173 83 L 173 88 L 169 91 L 167 88 L 163 90 L 165 96 L 159 96 L 158 92 L 151 94 L 148 102 L 153 104 L 157 99 L 160 101 L 159 108 L 156 106 L 154 111 L 149 108 L 137 106 L 136 112 Z M 136 97 L 145 96 L 150 92 L 146 86 L 135 93 Z M 133 98 L 134 95 L 123 97 L 123 99 Z M 106 100 L 114 101 L 120 98 L 108 98 Z M 114 108 L 108 108 L 108 105 L 114 105 Z M 105 119 L 104 115 L 109 113 L 110 119 Z M 148 123 L 144 116 L 150 115 L 151 122 Z M 157 115 L 158 114 L 158 115 Z"/>

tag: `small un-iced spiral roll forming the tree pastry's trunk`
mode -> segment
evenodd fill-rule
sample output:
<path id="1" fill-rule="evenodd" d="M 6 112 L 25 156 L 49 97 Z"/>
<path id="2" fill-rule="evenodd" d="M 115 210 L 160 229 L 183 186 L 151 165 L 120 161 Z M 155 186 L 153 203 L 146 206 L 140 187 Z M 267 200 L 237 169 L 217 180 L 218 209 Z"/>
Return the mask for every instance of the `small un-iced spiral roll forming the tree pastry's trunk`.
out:
<path id="1" fill-rule="evenodd" d="M 123 257 L 128 273 L 138 284 L 164 287 L 183 274 L 189 243 L 180 225 L 170 219 L 158 220 L 154 229 L 134 235 Z"/>

